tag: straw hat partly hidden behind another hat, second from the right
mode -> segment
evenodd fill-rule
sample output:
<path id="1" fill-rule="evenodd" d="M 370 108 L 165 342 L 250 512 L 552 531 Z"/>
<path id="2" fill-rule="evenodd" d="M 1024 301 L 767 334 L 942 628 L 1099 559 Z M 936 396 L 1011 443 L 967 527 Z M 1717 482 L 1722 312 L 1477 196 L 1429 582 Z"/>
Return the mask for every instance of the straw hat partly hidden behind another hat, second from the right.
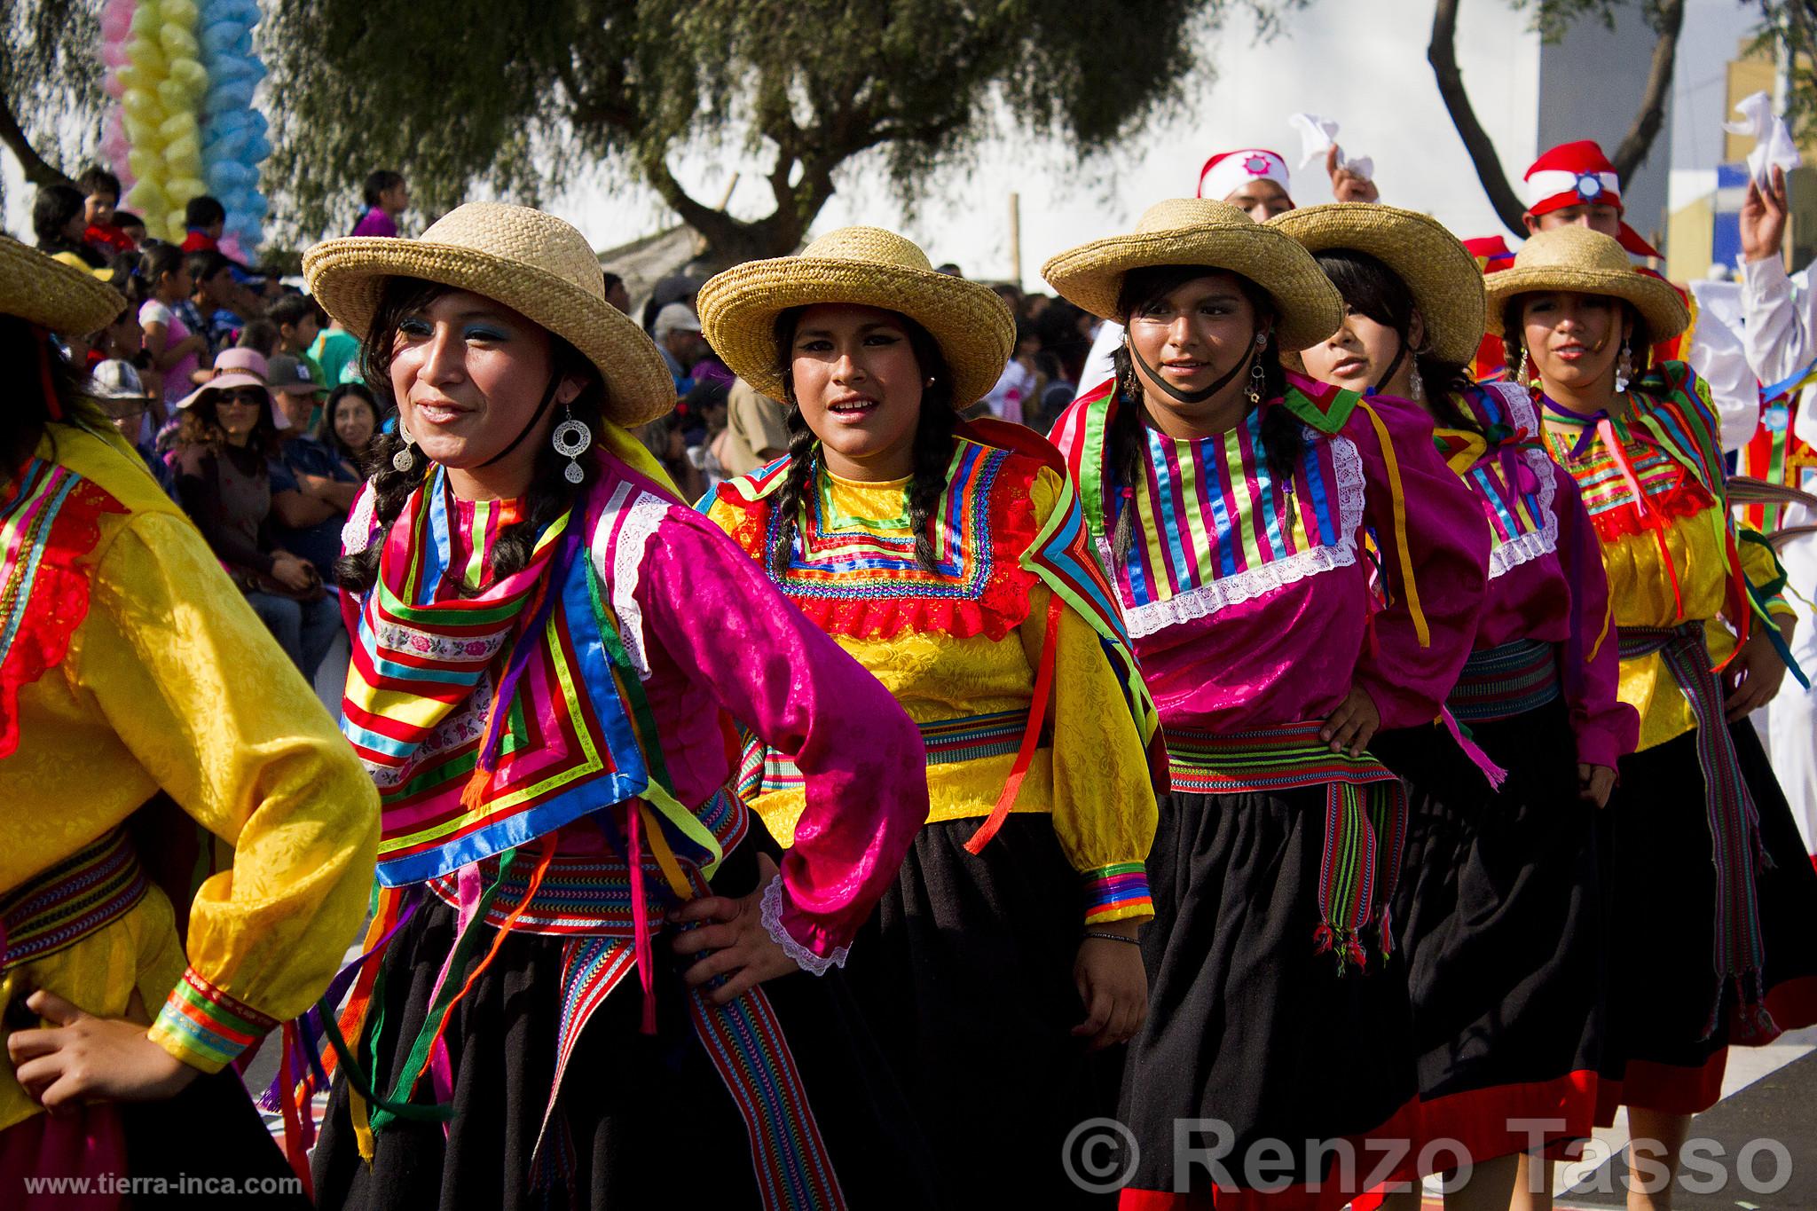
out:
<path id="1" fill-rule="evenodd" d="M 1308 252 L 1352 249 L 1374 256 L 1412 290 L 1435 358 L 1465 365 L 1475 356 L 1483 341 L 1483 271 L 1432 216 L 1374 202 L 1328 202 L 1277 214 L 1268 227 Z"/>

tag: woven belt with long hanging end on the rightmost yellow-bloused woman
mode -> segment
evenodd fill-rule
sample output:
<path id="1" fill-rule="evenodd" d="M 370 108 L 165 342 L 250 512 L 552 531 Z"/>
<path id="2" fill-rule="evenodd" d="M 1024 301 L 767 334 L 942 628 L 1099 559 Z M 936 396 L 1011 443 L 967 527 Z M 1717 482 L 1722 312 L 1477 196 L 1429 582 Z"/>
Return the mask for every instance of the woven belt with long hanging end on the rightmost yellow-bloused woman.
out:
<path id="1" fill-rule="evenodd" d="M 1704 775 L 1704 815 L 1710 822 L 1715 864 L 1715 1004 L 1704 1037 L 1715 1033 L 1723 1011 L 1723 984 L 1733 984 L 1741 1000 L 1744 1035 L 1773 1029 L 1762 1000 L 1766 942 L 1761 937 L 1761 902 L 1755 871 L 1772 866 L 1761 844 L 1761 813 L 1748 781 L 1741 775 L 1735 739 L 1728 733 L 1723 683 L 1710 666 L 1703 623 L 1672 628 L 1623 626 L 1621 659 L 1659 654 L 1697 719 L 1697 766 Z"/>

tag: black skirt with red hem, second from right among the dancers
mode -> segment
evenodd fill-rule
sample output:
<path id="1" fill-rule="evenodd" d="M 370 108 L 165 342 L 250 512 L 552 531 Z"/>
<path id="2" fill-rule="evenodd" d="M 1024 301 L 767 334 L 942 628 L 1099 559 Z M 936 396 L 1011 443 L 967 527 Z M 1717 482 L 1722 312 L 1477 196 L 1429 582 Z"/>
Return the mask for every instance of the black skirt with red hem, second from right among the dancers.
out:
<path id="1" fill-rule="evenodd" d="M 1594 1126 L 1604 922 L 1597 808 L 1579 799 L 1564 701 L 1470 730 L 1508 772 L 1499 792 L 1439 728 L 1386 732 L 1372 748 L 1410 784 L 1394 921 L 1423 1135 L 1490 1160 L 1532 1147 L 1532 1122 L 1555 1124 L 1546 1140 Z"/>

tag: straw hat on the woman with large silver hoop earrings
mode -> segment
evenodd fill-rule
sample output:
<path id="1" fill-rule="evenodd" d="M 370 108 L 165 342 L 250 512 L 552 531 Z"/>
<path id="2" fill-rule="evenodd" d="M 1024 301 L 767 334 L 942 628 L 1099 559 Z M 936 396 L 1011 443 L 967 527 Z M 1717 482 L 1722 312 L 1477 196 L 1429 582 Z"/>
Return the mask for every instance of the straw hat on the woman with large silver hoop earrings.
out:
<path id="1" fill-rule="evenodd" d="M 362 340 L 387 278 L 472 290 L 549 329 L 598 367 L 611 421 L 641 425 L 676 405 L 656 345 L 605 301 L 605 274 L 587 238 L 552 214 L 469 202 L 416 240 L 349 236 L 303 252 L 309 292 Z"/>

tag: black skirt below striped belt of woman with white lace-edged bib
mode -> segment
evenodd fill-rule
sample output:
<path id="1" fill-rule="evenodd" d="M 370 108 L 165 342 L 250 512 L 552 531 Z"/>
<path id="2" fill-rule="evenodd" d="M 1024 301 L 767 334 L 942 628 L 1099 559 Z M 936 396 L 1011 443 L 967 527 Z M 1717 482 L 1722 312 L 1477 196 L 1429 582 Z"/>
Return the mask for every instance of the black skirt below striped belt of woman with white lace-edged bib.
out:
<path id="1" fill-rule="evenodd" d="M 1159 806 L 1156 919 L 1143 931 L 1148 1020 L 1130 1040 L 1119 1106 L 1141 1151 L 1125 1206 L 1167 1206 L 1143 1191 L 1203 1198 L 1225 1175 L 1236 1187 L 1316 1178 L 1317 1196 L 1276 1198 L 1341 1206 L 1343 1173 L 1314 1144 L 1406 1137 L 1406 966 L 1370 955 L 1366 970 L 1339 975 L 1316 948 L 1323 786 L 1170 793 Z M 1176 1173 L 1177 1122 L 1185 1147 L 1223 1151 L 1221 1175 L 1203 1164 Z M 1266 1140 L 1292 1158 L 1281 1164 Z M 1379 1157 L 1365 1157 L 1355 1177 Z"/>

